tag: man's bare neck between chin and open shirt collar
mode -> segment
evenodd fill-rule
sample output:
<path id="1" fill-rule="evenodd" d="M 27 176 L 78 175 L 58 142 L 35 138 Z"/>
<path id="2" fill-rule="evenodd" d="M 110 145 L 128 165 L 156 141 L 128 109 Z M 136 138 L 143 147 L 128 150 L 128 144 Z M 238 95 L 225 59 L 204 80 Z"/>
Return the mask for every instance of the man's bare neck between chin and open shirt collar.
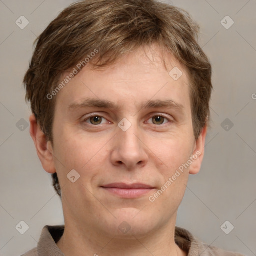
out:
<path id="1" fill-rule="evenodd" d="M 95 228 L 65 221 L 63 236 L 57 242 L 65 256 L 186 256 L 174 241 L 175 223 L 161 230 L 153 230 L 144 235 L 128 232 L 125 235 L 106 235 Z"/>

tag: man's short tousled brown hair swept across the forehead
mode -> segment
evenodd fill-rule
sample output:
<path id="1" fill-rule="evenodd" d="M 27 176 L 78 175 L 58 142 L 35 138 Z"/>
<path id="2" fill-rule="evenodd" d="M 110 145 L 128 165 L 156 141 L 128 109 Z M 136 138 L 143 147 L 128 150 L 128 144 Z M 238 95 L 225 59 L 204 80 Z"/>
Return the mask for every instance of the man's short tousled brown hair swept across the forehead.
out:
<path id="1" fill-rule="evenodd" d="M 64 9 L 36 39 L 24 76 L 26 101 L 53 142 L 55 99 L 47 98 L 61 74 L 93 52 L 95 67 L 114 63 L 121 54 L 156 43 L 188 70 L 195 139 L 209 124 L 211 65 L 197 43 L 199 25 L 188 12 L 156 0 L 84 0 Z M 91 63 L 91 62 L 90 62 Z M 170 71 L 170 70 L 169 70 Z M 53 186 L 61 196 L 57 174 Z"/>

